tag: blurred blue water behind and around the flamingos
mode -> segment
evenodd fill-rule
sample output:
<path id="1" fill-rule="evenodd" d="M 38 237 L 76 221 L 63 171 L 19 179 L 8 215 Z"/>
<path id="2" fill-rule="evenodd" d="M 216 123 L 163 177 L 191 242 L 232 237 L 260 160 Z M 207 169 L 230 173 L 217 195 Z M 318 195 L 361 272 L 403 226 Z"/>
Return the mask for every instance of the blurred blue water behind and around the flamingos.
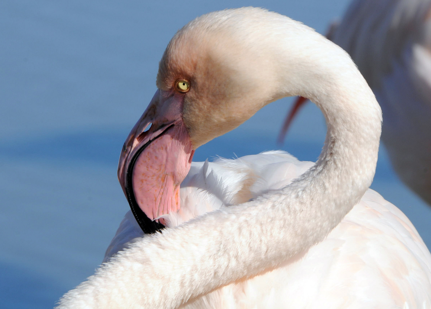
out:
<path id="1" fill-rule="evenodd" d="M 103 259 L 128 203 L 117 181 L 122 144 L 149 103 L 159 59 L 178 28 L 203 13 L 260 6 L 325 33 L 349 0 L 0 2 L 0 303 L 50 308 Z M 325 122 L 300 113 L 283 147 L 292 99 L 266 106 L 194 156 L 287 150 L 315 161 Z M 431 247 L 431 208 L 400 183 L 381 149 L 372 188 Z"/>

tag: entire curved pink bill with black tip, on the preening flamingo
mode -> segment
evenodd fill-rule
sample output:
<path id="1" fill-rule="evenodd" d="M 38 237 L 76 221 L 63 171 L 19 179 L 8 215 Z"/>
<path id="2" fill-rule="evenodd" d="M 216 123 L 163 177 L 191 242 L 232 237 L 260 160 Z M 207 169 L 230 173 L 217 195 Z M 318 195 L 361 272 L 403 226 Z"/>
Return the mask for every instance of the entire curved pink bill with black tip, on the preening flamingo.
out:
<path id="1" fill-rule="evenodd" d="M 179 187 L 194 153 L 182 120 L 183 98 L 156 91 L 120 155 L 118 179 L 145 233 L 163 228 L 160 216 L 180 208 Z"/>

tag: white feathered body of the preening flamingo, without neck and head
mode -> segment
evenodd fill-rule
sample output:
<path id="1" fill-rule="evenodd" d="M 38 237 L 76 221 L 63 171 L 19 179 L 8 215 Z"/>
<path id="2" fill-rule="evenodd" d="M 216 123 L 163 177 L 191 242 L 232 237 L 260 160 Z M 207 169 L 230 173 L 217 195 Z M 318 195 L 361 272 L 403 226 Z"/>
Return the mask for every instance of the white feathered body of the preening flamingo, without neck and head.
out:
<path id="1" fill-rule="evenodd" d="M 193 162 L 181 184 L 181 210 L 163 216 L 166 226 L 279 190 L 313 164 L 281 151 Z M 128 211 L 104 261 L 141 237 L 145 235 Z M 181 308 L 429 308 L 428 265 L 430 253 L 409 219 L 369 189 L 307 253 Z"/>

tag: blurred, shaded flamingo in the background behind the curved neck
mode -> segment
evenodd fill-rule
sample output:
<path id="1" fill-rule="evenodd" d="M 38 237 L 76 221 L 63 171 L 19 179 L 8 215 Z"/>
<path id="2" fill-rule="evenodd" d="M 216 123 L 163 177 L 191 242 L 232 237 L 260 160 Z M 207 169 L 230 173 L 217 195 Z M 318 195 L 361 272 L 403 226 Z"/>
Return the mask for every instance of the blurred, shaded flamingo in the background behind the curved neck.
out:
<path id="1" fill-rule="evenodd" d="M 355 0 L 329 38 L 355 61 L 382 108 L 382 140 L 401 180 L 431 204 L 431 1 Z M 284 134 L 300 106 L 287 116 Z"/>

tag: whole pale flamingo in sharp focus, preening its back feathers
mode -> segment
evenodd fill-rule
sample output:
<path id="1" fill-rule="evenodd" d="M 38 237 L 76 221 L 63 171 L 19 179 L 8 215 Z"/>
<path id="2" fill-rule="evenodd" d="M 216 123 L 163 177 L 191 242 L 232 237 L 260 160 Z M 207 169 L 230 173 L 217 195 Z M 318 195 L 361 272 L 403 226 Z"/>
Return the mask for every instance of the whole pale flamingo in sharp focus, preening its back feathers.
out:
<path id="1" fill-rule="evenodd" d="M 57 308 L 431 306 L 428 249 L 368 189 L 381 109 L 344 50 L 275 12 L 212 12 L 172 38 L 157 87 L 120 156 L 131 211 L 107 262 Z M 294 95 L 325 115 L 317 162 L 279 151 L 191 161 Z"/>

